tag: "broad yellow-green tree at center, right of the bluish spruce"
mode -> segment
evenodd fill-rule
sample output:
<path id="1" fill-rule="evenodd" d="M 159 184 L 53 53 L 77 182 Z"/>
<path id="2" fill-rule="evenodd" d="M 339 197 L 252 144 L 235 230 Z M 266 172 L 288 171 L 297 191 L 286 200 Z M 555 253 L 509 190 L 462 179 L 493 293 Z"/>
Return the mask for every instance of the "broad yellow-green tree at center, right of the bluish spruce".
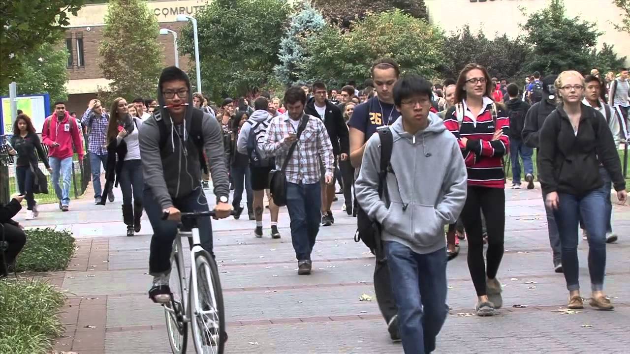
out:
<path id="1" fill-rule="evenodd" d="M 369 77 L 379 57 L 392 57 L 403 72 L 428 78 L 437 76 L 436 68 L 445 60 L 442 31 L 400 10 L 369 14 L 353 22 L 350 31 L 326 26 L 304 43 L 305 79 L 336 86 Z"/>

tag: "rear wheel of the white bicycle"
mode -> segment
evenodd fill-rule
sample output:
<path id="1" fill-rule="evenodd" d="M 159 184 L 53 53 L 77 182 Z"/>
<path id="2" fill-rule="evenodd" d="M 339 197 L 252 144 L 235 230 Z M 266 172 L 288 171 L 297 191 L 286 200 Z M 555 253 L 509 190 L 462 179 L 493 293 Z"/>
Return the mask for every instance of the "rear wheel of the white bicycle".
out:
<path id="1" fill-rule="evenodd" d="M 183 304 L 183 284 L 181 283 L 181 275 L 185 274 L 184 265 L 180 265 L 175 244 L 173 245 L 173 253 L 171 254 L 171 277 L 169 279 L 169 287 L 173 293 L 171 302 L 164 306 L 164 315 L 166 317 L 166 331 L 168 332 L 168 341 L 171 345 L 173 354 L 186 353 L 186 343 L 188 342 L 188 324 L 183 321 L 184 304 Z"/>

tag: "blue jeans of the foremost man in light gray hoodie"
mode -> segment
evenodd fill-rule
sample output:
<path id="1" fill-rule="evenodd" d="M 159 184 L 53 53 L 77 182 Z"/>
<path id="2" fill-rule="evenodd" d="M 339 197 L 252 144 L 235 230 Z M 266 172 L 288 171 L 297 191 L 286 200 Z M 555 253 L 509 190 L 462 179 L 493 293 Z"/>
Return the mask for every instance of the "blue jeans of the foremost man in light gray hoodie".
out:
<path id="1" fill-rule="evenodd" d="M 386 241 L 385 251 L 404 352 L 431 353 L 449 312 L 446 248 L 419 254 L 401 243 Z"/>

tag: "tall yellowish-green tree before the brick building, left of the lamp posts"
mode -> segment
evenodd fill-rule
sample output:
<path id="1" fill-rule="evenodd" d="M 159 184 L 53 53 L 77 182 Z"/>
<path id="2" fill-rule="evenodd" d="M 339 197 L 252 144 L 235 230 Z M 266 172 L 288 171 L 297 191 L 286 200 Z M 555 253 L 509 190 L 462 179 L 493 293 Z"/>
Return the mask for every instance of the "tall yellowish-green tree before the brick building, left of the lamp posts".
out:
<path id="1" fill-rule="evenodd" d="M 140 0 L 112 0 L 107 6 L 99 67 L 110 87 L 100 88 L 105 101 L 122 96 L 155 97 L 163 52 L 157 42 L 159 26 Z"/>

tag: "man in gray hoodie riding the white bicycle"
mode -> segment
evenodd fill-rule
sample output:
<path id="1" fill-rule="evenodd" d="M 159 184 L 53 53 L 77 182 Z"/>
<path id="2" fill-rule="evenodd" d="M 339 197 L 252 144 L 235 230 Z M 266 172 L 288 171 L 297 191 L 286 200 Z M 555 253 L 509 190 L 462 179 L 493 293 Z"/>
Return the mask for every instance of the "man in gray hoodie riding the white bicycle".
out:
<path id="1" fill-rule="evenodd" d="M 221 127 L 217 120 L 193 108 L 190 79 L 178 67 L 166 67 L 157 86 L 159 109 L 140 127 L 140 156 L 144 174 L 145 210 L 151 226 L 149 298 L 166 304 L 171 299 L 169 275 L 173 240 L 181 212 L 208 211 L 201 186 L 202 151 L 212 176 L 217 219 L 230 215 L 229 182 L 223 158 Z M 203 158 L 203 157 L 202 157 Z M 164 214 L 168 219 L 163 220 Z M 202 247 L 212 253 L 210 217 L 197 219 Z"/>

